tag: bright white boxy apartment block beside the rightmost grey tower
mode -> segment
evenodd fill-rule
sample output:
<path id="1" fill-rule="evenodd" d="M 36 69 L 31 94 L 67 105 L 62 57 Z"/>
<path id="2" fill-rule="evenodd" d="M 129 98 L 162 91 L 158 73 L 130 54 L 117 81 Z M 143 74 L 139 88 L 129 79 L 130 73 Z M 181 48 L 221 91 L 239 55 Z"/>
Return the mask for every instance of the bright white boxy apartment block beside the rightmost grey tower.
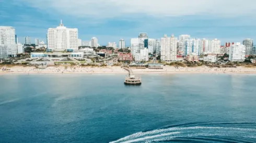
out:
<path id="1" fill-rule="evenodd" d="M 235 43 L 230 47 L 229 60 L 230 61 L 245 61 L 246 46 L 241 43 Z"/>

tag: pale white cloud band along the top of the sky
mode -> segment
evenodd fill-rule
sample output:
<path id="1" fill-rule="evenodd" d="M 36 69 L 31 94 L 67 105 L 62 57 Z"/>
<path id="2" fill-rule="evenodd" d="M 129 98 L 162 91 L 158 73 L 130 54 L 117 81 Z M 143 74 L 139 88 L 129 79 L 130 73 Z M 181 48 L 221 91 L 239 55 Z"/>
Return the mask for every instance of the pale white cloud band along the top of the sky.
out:
<path id="1" fill-rule="evenodd" d="M 20 0 L 27 5 L 49 12 L 75 17 L 129 17 L 144 14 L 154 17 L 163 16 L 241 16 L 253 15 L 254 0 Z M 49 10 L 50 8 L 50 10 Z"/>

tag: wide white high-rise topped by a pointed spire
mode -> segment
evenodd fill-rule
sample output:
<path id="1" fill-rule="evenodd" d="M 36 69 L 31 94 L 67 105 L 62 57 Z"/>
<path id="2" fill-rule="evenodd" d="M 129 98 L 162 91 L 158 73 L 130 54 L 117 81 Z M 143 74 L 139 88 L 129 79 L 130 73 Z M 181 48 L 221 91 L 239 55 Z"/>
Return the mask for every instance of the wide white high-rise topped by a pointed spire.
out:
<path id="1" fill-rule="evenodd" d="M 78 30 L 76 28 L 69 29 L 64 24 L 59 27 L 49 28 L 47 34 L 48 49 L 55 51 L 77 51 L 78 50 Z"/>

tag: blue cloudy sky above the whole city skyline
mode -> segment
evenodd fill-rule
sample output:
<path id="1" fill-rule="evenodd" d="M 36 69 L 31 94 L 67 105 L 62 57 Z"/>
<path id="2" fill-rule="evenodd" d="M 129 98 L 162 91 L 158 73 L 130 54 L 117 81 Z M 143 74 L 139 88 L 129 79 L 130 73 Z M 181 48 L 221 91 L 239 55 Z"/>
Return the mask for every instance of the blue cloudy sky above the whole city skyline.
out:
<path id="1" fill-rule="evenodd" d="M 19 42 L 24 37 L 46 40 L 49 28 L 63 24 L 77 28 L 78 37 L 97 37 L 101 45 L 129 46 L 131 38 L 147 33 L 179 37 L 218 38 L 225 42 L 256 39 L 255 0 L 0 0 L 0 26 L 15 27 Z"/>

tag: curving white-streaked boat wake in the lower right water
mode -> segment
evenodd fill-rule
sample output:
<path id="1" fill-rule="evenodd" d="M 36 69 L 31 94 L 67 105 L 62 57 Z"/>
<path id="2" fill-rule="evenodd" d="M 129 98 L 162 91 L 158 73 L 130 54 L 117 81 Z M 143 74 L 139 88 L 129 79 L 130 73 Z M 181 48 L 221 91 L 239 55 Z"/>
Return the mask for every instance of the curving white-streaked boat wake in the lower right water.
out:
<path id="1" fill-rule="evenodd" d="M 174 125 L 138 132 L 115 142 L 255 142 L 256 123 Z"/>

